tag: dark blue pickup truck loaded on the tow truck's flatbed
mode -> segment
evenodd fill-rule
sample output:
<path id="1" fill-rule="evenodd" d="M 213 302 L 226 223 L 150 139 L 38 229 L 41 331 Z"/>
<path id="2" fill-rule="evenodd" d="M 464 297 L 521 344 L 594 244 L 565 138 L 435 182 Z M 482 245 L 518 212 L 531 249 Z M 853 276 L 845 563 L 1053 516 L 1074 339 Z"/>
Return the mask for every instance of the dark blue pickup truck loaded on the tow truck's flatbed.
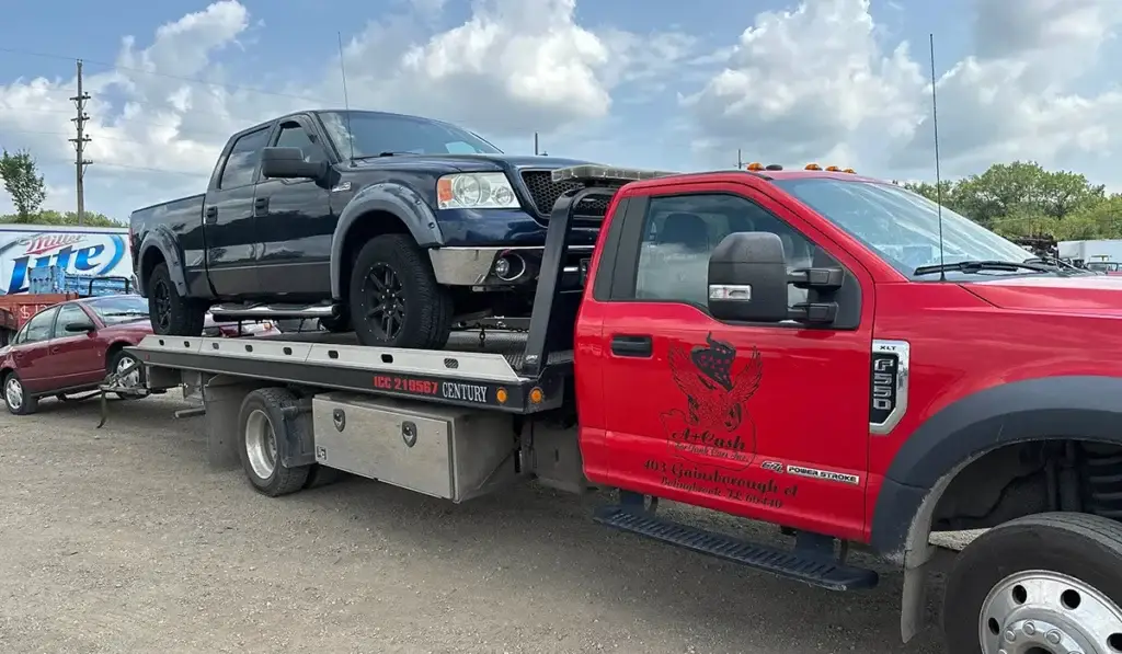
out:
<path id="1" fill-rule="evenodd" d="M 215 320 L 319 319 L 369 346 L 436 349 L 452 325 L 528 315 L 572 159 L 504 155 L 453 125 L 305 111 L 230 138 L 204 194 L 132 212 L 158 334 Z M 606 208 L 574 224 L 579 277 Z"/>

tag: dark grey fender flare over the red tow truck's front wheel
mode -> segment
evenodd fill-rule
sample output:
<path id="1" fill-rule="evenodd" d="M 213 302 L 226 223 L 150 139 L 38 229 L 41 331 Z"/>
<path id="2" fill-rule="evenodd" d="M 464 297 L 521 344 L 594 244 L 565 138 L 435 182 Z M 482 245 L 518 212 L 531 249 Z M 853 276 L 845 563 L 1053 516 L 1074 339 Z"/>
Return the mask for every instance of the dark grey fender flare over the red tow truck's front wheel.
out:
<path id="1" fill-rule="evenodd" d="M 926 537 L 921 523 L 948 478 L 1003 445 L 1055 437 L 1122 443 L 1120 400 L 1122 378 L 1073 375 L 1002 384 L 947 405 L 893 458 L 876 498 L 871 545 L 902 563 L 908 550 L 922 547 L 910 541 Z"/>

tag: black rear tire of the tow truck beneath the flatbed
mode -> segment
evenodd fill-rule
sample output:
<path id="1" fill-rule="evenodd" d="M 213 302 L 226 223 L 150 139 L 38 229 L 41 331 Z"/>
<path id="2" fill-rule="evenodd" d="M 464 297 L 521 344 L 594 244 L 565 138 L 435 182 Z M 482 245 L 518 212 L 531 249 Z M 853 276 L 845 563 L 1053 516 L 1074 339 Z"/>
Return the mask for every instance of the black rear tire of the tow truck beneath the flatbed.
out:
<path id="1" fill-rule="evenodd" d="M 238 415 L 238 457 L 241 459 L 241 468 L 246 471 L 249 483 L 261 495 L 269 497 L 288 495 L 303 488 L 307 481 L 311 466 L 288 468 L 282 462 L 279 455 L 282 445 L 278 441 L 285 437 L 284 430 L 305 429 L 304 421 L 285 420 L 282 413 L 285 408 L 294 407 L 297 404 L 296 396 L 284 388 L 258 388 L 247 394 L 246 399 L 241 403 L 241 411 Z M 258 415 L 263 415 L 267 421 L 266 429 L 273 430 L 276 444 L 272 471 L 267 475 L 255 468 L 255 435 L 251 432 L 255 431 L 257 421 L 261 420 Z M 298 440 L 306 436 L 303 433 L 293 435 L 297 436 Z M 257 452 L 257 454 L 261 453 Z M 259 459 L 257 459 L 257 463 L 260 463 Z"/>

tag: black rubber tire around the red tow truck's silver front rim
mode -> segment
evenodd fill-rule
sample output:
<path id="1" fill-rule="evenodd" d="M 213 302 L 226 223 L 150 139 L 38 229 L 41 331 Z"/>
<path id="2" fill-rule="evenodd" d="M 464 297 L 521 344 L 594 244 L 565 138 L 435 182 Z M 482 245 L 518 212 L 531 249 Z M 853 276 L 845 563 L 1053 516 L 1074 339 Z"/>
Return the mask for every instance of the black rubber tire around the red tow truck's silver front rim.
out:
<path id="1" fill-rule="evenodd" d="M 980 632 L 986 597 L 1002 580 L 1026 571 L 1065 574 L 1096 589 L 1122 607 L 1122 524 L 1087 514 L 1048 513 L 1010 521 L 978 536 L 958 555 L 947 579 L 942 629 L 948 652 L 982 652 Z M 1020 607 L 1018 610 L 1031 610 L 1033 597 L 1020 595 L 1024 587 L 1014 584 L 1011 588 L 1012 601 Z M 1068 590 L 1057 592 L 1057 597 L 1048 597 L 1054 606 L 1079 604 L 1068 601 L 1068 592 L 1075 592 L 1070 587 L 1057 583 L 1057 588 Z M 1078 599 L 1079 593 L 1070 597 Z M 1006 630 L 1005 625 L 1001 624 L 1000 617 L 993 621 L 990 617 L 985 628 L 990 634 L 996 630 L 994 637 L 1001 637 Z M 1017 617 L 1023 619 L 1030 614 L 1021 612 Z M 1105 642 L 1097 643 L 1098 647 L 1106 652 L 1122 652 L 1122 620 L 1110 628 L 1113 630 L 1101 636 Z M 1039 630 L 1036 633 L 1036 637 L 1043 635 Z M 1014 636 L 1021 639 L 1029 637 L 1021 633 L 1014 633 Z M 1038 650 L 1041 652 L 1056 651 L 1055 645 L 1040 645 Z"/>

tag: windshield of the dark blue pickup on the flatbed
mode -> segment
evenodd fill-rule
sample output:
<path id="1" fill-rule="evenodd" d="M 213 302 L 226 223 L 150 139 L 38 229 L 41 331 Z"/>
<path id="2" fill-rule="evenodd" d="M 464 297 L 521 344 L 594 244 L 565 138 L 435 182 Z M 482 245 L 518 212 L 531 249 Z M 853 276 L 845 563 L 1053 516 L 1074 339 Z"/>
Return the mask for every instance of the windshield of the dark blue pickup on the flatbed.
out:
<path id="1" fill-rule="evenodd" d="M 350 125 L 348 126 L 348 113 Z M 447 122 L 373 111 L 321 111 L 328 135 L 343 157 L 389 155 L 498 155 L 502 150 Z"/>

